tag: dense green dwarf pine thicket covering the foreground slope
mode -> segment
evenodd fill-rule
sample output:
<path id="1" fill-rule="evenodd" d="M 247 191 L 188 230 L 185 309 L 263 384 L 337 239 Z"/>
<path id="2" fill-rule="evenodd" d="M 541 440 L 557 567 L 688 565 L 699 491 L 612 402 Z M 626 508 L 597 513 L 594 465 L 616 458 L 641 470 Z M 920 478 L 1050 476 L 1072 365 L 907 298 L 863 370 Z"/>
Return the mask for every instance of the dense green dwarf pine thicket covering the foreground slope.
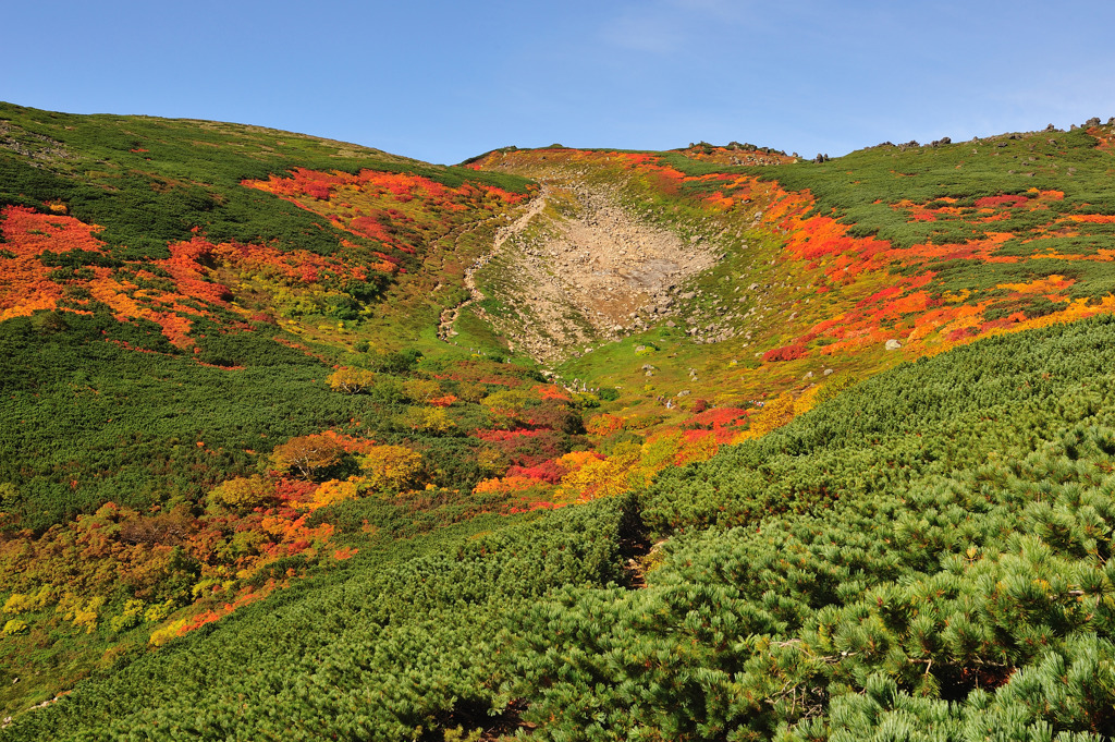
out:
<path id="1" fill-rule="evenodd" d="M 901 366 L 636 503 L 370 551 L 0 739 L 1104 739 L 1113 354 L 1102 317 Z"/>

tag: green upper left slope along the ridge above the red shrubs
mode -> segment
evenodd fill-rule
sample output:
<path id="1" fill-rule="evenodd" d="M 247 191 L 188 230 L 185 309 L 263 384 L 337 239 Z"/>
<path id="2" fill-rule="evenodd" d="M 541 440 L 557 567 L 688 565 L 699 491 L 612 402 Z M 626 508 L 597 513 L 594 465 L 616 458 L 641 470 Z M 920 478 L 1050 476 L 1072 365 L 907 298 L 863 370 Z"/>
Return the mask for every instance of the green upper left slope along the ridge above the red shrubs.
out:
<path id="1" fill-rule="evenodd" d="M 129 260 L 168 258 L 166 243 L 201 227 L 213 242 L 266 242 L 330 254 L 345 239 L 329 220 L 243 180 L 294 167 L 404 172 L 449 186 L 467 181 L 522 192 L 527 181 L 428 165 L 290 132 L 191 119 L 76 116 L 0 103 L 0 206 L 62 201 Z"/>

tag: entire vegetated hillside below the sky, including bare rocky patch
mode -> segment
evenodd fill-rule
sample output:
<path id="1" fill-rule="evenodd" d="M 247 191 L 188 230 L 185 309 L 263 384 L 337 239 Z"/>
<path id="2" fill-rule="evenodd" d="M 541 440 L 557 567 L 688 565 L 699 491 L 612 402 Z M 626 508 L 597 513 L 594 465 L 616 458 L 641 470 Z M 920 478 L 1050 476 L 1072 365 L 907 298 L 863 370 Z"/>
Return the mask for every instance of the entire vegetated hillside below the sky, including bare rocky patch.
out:
<path id="1" fill-rule="evenodd" d="M 3 104 L 0 739 L 1112 735 L 1112 136 Z"/>

